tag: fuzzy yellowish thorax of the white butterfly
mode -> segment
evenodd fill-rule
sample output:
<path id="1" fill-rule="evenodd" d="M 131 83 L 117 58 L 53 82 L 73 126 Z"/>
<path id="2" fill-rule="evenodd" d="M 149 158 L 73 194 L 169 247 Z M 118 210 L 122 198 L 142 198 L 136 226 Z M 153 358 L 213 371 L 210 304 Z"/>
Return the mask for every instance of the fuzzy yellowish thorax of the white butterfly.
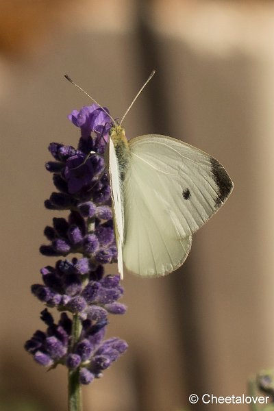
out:
<path id="1" fill-rule="evenodd" d="M 110 138 L 114 144 L 121 181 L 125 179 L 125 173 L 129 164 L 129 145 L 125 136 L 125 129 L 121 125 L 115 125 L 110 129 Z"/>

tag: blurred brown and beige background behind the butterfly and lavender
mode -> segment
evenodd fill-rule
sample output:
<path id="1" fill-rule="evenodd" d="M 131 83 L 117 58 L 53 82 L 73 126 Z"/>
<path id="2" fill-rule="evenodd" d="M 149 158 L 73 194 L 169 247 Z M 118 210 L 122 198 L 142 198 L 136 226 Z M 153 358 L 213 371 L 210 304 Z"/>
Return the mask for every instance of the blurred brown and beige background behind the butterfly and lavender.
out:
<path id="1" fill-rule="evenodd" d="M 262 0 L 0 2 L 1 410 L 66 410 L 66 370 L 47 373 L 23 350 L 43 327 L 29 287 L 54 261 L 38 253 L 55 215 L 43 208 L 47 146 L 75 145 L 66 115 L 91 104 L 64 73 L 121 118 L 156 69 L 127 137 L 189 142 L 235 184 L 181 269 L 126 275 L 128 311 L 112 316 L 108 336 L 129 349 L 84 388 L 84 411 L 228 411 L 188 396 L 242 395 L 248 377 L 274 366 L 273 12 Z"/>

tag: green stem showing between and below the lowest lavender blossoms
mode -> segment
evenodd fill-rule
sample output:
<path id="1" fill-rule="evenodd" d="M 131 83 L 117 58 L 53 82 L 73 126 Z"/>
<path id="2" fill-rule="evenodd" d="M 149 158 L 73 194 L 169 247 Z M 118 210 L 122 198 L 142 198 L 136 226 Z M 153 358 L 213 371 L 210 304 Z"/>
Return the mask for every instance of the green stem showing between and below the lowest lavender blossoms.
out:
<path id="1" fill-rule="evenodd" d="M 81 334 L 81 322 L 77 314 L 73 315 L 73 329 L 71 332 L 72 351 Z M 69 411 L 82 411 L 82 390 L 79 384 L 79 369 L 69 370 Z"/>

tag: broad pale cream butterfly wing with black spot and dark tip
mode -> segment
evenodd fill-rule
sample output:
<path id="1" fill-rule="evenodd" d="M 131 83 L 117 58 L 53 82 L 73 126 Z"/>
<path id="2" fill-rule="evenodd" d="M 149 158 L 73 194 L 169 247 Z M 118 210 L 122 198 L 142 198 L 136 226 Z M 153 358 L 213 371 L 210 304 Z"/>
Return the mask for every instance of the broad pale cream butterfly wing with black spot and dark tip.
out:
<path id="1" fill-rule="evenodd" d="M 140 136 L 129 149 L 123 261 L 137 275 L 165 275 L 186 260 L 192 233 L 219 210 L 233 184 L 217 160 L 175 138 Z"/>

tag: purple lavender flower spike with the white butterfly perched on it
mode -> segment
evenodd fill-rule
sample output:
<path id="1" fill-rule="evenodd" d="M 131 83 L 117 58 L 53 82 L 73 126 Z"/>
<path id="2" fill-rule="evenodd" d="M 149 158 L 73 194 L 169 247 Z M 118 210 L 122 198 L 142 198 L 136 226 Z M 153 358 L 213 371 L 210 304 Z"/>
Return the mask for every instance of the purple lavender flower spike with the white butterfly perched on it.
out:
<path id="1" fill-rule="evenodd" d="M 69 369 L 70 411 L 80 408 L 79 384 L 101 377 L 127 349 L 120 338 L 103 340 L 108 314 L 126 310 L 119 302 L 123 295 L 119 275 L 105 275 L 103 267 L 117 257 L 110 184 L 102 156 L 111 127 L 105 110 L 94 104 L 70 114 L 69 119 L 81 129 L 77 148 L 49 145 L 53 160 L 46 169 L 53 173 L 55 192 L 45 206 L 69 214 L 66 219 L 53 218 L 45 228 L 48 243 L 40 252 L 60 259 L 54 266 L 43 267 L 41 284 L 32 286 L 32 293 L 47 307 L 41 312 L 47 329 L 36 331 L 25 343 L 38 364 L 51 368 L 62 364 Z M 53 307 L 61 312 L 57 323 L 48 311 Z"/>

